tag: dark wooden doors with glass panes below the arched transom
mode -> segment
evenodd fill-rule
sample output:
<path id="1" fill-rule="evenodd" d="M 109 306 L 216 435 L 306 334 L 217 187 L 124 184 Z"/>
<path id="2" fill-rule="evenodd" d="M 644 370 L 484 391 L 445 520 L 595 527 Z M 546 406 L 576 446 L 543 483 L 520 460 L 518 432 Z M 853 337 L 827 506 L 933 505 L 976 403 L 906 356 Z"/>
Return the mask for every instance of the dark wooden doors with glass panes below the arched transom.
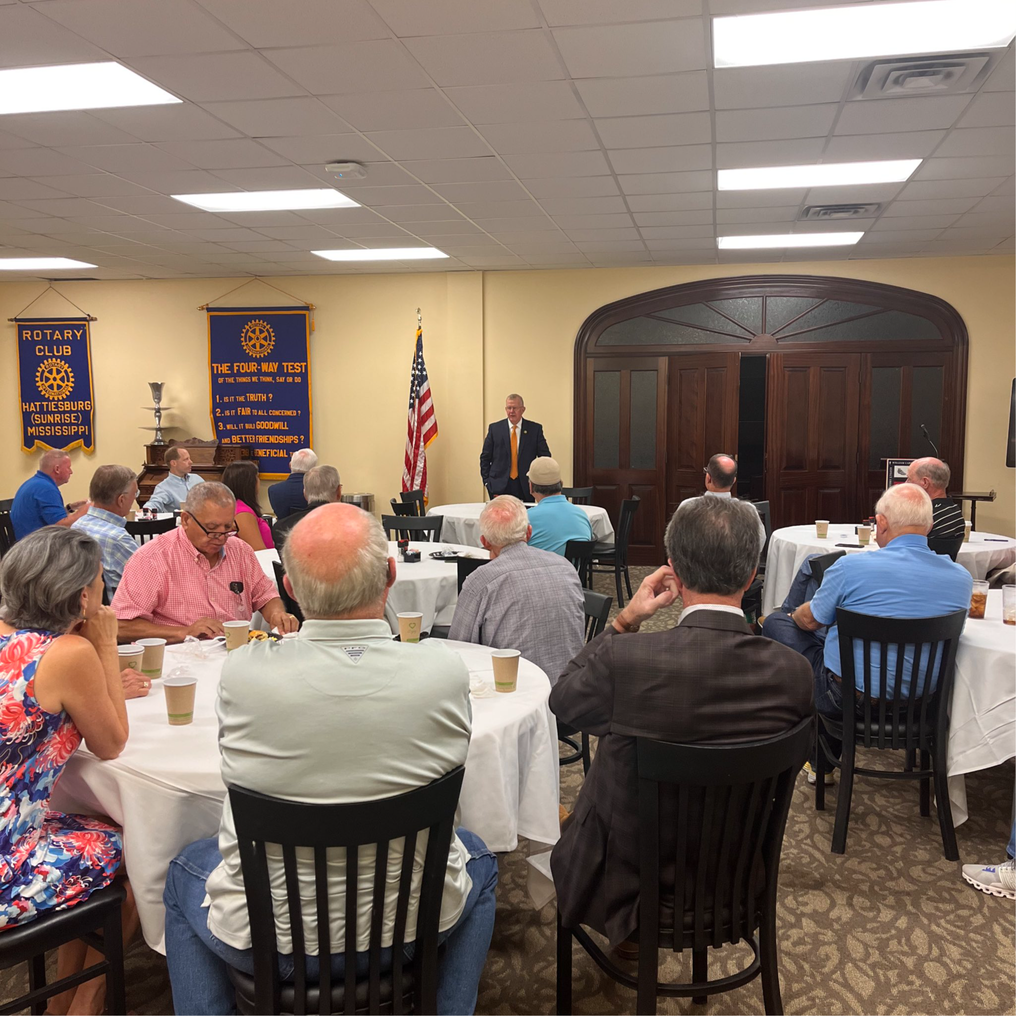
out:
<path id="1" fill-rule="evenodd" d="M 931 453 L 920 418 L 949 457 L 951 352 L 589 359 L 586 482 L 615 519 L 623 499 L 639 497 L 633 562 L 663 559 L 666 520 L 702 493 L 709 456 L 737 454 L 743 356 L 767 360 L 765 493 L 774 527 L 869 515 L 884 486 L 883 457 Z"/>

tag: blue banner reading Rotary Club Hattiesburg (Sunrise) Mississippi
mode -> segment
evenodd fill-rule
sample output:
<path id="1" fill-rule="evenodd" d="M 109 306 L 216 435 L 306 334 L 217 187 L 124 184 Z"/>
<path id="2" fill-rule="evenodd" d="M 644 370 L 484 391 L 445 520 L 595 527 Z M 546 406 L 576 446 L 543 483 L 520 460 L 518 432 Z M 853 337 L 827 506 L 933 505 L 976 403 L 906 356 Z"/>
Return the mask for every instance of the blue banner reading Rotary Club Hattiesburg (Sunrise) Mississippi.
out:
<path id="1" fill-rule="evenodd" d="M 86 318 L 19 318 L 21 450 L 93 451 L 91 340 Z"/>

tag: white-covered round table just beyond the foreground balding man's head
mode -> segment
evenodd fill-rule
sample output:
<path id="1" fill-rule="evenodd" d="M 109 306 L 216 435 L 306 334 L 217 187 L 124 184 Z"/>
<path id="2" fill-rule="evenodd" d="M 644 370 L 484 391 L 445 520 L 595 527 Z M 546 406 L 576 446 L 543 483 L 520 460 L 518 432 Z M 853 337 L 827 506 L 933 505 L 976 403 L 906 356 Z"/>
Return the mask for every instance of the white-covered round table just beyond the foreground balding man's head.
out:
<path id="1" fill-rule="evenodd" d="M 458 601 L 458 567 L 452 561 L 435 561 L 431 555 L 437 551 L 457 551 L 469 558 L 490 557 L 490 554 L 475 547 L 461 544 L 410 543 L 410 548 L 420 551 L 420 561 L 406 564 L 398 560 L 398 547 L 390 543 L 388 553 L 395 558 L 395 584 L 388 591 L 385 605 L 385 621 L 393 634 L 398 633 L 397 615 L 405 611 L 423 614 L 422 630 L 429 632 L 434 625 L 450 625 Z M 257 551 L 258 561 L 265 575 L 275 581 L 272 562 L 278 560 L 278 552 Z"/>

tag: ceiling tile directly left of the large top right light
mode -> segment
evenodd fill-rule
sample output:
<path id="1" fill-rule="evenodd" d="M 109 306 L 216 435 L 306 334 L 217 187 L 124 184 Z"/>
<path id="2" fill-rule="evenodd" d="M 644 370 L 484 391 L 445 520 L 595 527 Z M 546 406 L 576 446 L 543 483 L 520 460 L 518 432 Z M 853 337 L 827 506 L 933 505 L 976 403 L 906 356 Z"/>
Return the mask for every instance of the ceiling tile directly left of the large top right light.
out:
<path id="1" fill-rule="evenodd" d="M 555 28 L 572 77 L 620 77 L 704 70 L 701 19 Z"/>

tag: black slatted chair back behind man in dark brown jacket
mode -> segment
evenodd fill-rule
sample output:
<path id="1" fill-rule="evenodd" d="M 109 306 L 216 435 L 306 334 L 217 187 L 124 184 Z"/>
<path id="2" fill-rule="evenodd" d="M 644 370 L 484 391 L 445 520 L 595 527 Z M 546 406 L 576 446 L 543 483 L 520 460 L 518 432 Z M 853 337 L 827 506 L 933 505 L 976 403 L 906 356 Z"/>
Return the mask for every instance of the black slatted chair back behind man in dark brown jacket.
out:
<path id="1" fill-rule="evenodd" d="M 640 942 L 647 924 L 660 920 L 660 898 L 671 892 L 652 861 L 660 851 L 675 859 L 675 951 L 701 951 L 755 933 L 763 900 L 775 905 L 793 778 L 808 757 L 813 727 L 808 717 L 785 734 L 744 745 L 636 739 Z"/>

